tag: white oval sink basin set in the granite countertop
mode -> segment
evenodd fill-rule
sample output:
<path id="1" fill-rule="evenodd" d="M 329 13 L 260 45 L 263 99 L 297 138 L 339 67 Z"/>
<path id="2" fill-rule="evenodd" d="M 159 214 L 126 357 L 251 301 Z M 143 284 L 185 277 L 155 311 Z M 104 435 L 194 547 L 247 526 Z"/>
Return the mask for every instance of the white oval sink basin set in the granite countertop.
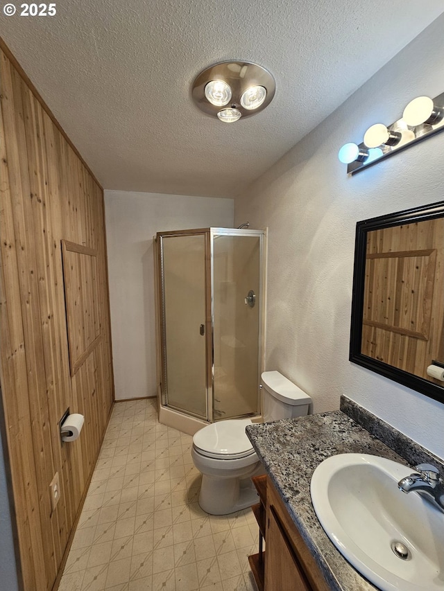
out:
<path id="1" fill-rule="evenodd" d="M 399 490 L 398 481 L 413 472 L 382 457 L 341 454 L 311 477 L 325 533 L 382 591 L 444 591 L 444 513 L 418 493 Z M 392 545 L 398 542 L 397 555 Z"/>

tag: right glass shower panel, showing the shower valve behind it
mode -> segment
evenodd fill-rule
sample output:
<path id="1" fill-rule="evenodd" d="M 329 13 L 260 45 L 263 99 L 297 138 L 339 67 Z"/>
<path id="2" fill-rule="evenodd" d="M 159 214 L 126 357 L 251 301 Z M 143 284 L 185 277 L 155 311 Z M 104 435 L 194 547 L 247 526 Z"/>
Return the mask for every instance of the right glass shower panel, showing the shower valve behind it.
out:
<path id="1" fill-rule="evenodd" d="M 239 234 L 213 237 L 215 421 L 258 412 L 261 240 Z"/>

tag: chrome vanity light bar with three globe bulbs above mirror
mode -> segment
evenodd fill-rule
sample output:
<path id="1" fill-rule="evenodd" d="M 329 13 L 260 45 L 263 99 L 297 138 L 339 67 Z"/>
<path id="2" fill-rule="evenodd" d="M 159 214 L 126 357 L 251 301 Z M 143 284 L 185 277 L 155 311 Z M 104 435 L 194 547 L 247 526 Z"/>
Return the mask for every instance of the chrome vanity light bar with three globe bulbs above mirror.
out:
<path id="1" fill-rule="evenodd" d="M 388 126 L 371 125 L 364 134 L 364 141 L 345 143 L 338 157 L 348 165 L 347 172 L 354 174 L 443 129 L 444 93 L 434 99 L 418 96 L 405 107 L 402 118 Z"/>

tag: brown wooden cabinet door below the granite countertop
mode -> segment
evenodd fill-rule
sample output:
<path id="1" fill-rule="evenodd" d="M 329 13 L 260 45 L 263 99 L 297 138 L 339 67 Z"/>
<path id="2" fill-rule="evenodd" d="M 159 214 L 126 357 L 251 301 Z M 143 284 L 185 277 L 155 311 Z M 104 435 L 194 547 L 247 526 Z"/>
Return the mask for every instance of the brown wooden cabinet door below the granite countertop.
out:
<path id="1" fill-rule="evenodd" d="M 265 591 L 311 591 L 273 505 L 267 516 Z"/>

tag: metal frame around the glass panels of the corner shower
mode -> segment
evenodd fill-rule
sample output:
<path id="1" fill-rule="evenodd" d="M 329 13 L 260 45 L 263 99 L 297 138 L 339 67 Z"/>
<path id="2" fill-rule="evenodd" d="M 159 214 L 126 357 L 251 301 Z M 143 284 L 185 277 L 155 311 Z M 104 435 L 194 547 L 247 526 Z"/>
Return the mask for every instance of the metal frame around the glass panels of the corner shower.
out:
<path id="1" fill-rule="evenodd" d="M 166 323 L 165 323 L 165 290 L 164 290 L 164 261 L 163 261 L 163 238 L 168 236 L 197 236 L 199 234 L 205 235 L 205 396 L 207 416 L 195 414 L 190 411 L 185 411 L 168 403 L 168 380 L 167 380 L 167 339 L 166 339 Z M 261 400 L 259 381 L 264 367 L 264 310 L 266 303 L 266 230 L 244 230 L 237 228 L 197 228 L 189 230 L 171 230 L 164 232 L 157 232 L 155 241 L 157 247 L 156 263 L 157 263 L 157 294 L 158 294 L 158 335 L 160 361 L 157 364 L 160 373 L 160 400 L 162 406 L 170 408 L 184 416 L 191 416 L 197 418 L 205 423 L 216 422 L 214 418 L 214 238 L 216 236 L 257 236 L 259 238 L 259 326 L 258 326 L 258 359 L 257 359 L 257 412 L 233 416 L 231 418 L 243 418 L 248 416 L 258 416 L 261 413 Z M 223 420 L 223 419 L 217 419 Z"/>

